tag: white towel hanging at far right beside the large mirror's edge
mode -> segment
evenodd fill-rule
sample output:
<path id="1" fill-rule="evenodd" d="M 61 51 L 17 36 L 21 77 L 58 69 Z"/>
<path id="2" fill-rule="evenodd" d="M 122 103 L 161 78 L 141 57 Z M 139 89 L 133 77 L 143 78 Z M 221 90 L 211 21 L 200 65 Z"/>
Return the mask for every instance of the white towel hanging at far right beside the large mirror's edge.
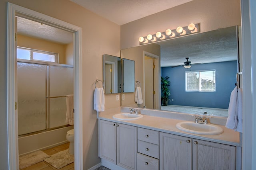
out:
<path id="1" fill-rule="evenodd" d="M 240 88 L 235 87 L 231 92 L 226 127 L 242 132 L 242 90 Z"/>

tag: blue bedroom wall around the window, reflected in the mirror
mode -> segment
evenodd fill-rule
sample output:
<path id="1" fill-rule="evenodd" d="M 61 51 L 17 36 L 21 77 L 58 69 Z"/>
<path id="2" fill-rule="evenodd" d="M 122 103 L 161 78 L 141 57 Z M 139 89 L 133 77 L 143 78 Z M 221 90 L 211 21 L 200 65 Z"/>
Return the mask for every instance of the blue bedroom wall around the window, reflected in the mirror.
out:
<path id="1" fill-rule="evenodd" d="M 185 92 L 185 72 L 216 70 L 216 92 Z M 196 64 L 190 68 L 162 67 L 161 76 L 169 76 L 170 100 L 168 104 L 179 106 L 214 107 L 228 109 L 230 94 L 235 88 L 237 61 Z M 172 101 L 172 99 L 174 101 Z"/>

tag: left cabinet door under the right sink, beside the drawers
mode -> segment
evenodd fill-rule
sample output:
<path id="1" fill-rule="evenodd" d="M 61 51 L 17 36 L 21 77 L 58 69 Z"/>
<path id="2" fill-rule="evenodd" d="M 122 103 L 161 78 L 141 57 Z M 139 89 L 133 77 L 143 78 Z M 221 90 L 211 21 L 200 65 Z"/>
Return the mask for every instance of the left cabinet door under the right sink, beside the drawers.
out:
<path id="1" fill-rule="evenodd" d="M 160 133 L 160 170 L 191 170 L 191 138 Z"/>

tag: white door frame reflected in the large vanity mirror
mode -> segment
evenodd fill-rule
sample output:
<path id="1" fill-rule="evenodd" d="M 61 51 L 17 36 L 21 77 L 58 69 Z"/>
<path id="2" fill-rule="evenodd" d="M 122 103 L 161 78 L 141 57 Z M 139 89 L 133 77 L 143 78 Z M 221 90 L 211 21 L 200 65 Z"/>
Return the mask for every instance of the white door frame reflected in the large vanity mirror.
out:
<path id="1" fill-rule="evenodd" d="M 155 79 L 154 79 L 154 86 L 155 86 L 155 92 L 156 94 L 154 95 L 155 100 L 154 100 L 154 106 L 155 109 L 160 109 L 161 108 L 161 71 L 160 71 L 160 57 L 158 55 L 154 55 L 152 53 L 149 53 L 147 51 L 143 51 L 143 99 L 145 101 L 145 56 L 153 58 L 155 60 Z M 157 101 L 157 102 L 156 102 Z M 146 106 L 147 107 L 147 106 Z"/>

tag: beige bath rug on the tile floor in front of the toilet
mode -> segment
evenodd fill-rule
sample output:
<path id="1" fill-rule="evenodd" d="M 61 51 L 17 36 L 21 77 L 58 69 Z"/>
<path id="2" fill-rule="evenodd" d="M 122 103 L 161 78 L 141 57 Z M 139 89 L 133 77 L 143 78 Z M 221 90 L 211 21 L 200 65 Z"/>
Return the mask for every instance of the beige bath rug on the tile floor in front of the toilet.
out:
<path id="1" fill-rule="evenodd" d="M 48 162 L 50 165 L 54 166 L 55 168 L 60 169 L 63 166 L 66 166 L 74 162 L 74 155 L 70 154 L 68 152 L 68 149 L 66 149 L 56 154 L 53 154 L 49 158 L 46 158 L 44 161 Z"/>

